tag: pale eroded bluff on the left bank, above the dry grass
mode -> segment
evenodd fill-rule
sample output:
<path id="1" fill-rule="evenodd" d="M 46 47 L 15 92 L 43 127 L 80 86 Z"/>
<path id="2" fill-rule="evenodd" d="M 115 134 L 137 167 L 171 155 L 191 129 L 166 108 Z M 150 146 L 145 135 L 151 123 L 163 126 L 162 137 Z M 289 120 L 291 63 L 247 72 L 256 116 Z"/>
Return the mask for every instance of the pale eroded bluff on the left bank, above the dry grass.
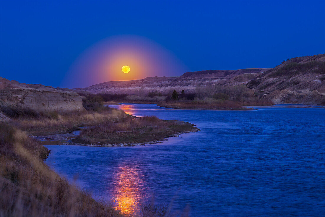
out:
<path id="1" fill-rule="evenodd" d="M 0 104 L 31 108 L 39 112 L 84 110 L 82 98 L 73 91 L 40 84 L 24 84 L 2 77 L 0 77 Z"/>

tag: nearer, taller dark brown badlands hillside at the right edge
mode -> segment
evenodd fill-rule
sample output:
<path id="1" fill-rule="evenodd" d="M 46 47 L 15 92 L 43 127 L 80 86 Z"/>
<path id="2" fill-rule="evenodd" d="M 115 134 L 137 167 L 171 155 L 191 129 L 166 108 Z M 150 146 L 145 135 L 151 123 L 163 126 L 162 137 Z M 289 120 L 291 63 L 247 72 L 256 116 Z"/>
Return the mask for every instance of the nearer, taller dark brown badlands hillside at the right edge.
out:
<path id="1" fill-rule="evenodd" d="M 283 61 L 247 87 L 267 92 L 264 99 L 274 103 L 320 104 L 325 102 L 325 54 Z"/>

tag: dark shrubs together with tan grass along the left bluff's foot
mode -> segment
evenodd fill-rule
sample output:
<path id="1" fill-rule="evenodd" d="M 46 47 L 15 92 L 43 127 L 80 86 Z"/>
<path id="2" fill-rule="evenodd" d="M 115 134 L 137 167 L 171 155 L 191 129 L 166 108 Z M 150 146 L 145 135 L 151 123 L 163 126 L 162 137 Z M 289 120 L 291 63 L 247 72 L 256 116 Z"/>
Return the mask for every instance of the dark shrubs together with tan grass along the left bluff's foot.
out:
<path id="1" fill-rule="evenodd" d="M 12 119 L 11 124 L 14 127 L 30 135 L 66 133 L 81 126 L 93 126 L 131 117 L 123 110 L 98 106 L 97 102 L 86 107 L 87 110 L 74 112 L 36 112 L 31 109 L 2 106 L 1 111 Z"/>

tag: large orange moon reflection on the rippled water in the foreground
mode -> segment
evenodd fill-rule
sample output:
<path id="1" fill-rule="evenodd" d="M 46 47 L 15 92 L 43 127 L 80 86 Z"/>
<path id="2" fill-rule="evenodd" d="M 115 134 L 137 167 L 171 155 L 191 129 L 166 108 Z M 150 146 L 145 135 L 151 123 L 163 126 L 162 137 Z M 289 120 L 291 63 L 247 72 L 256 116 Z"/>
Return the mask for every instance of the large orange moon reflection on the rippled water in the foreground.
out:
<path id="1" fill-rule="evenodd" d="M 116 209 L 129 215 L 139 214 L 144 198 L 139 169 L 120 167 L 116 173 L 113 187 L 113 203 Z"/>

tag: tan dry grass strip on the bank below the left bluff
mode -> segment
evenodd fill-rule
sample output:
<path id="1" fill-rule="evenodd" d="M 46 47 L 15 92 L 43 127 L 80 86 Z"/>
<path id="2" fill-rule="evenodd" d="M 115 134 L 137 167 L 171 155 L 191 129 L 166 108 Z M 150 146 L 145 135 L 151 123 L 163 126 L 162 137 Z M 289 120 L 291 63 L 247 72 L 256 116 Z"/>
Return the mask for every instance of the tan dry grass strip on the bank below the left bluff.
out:
<path id="1" fill-rule="evenodd" d="M 123 110 L 103 107 L 98 111 L 80 111 L 53 113 L 39 117 L 19 117 L 14 119 L 14 126 L 28 134 L 54 134 L 71 132 L 80 126 L 98 125 L 108 121 L 119 121 L 129 118 Z"/>

